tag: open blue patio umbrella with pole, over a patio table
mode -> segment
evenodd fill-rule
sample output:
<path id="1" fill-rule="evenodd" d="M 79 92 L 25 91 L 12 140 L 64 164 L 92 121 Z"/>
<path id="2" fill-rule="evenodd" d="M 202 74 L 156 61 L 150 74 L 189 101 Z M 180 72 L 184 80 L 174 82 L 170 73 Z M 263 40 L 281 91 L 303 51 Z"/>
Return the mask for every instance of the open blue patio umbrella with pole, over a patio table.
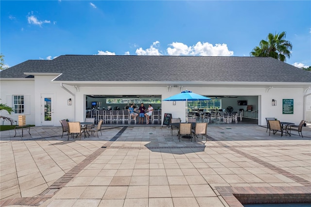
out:
<path id="1" fill-rule="evenodd" d="M 190 90 L 184 90 L 181 93 L 173 95 L 169 98 L 163 99 L 163 101 L 186 101 L 186 121 L 188 123 L 188 101 L 202 101 L 210 100 L 210 98 L 201 96 L 196 93 L 192 93 Z"/>

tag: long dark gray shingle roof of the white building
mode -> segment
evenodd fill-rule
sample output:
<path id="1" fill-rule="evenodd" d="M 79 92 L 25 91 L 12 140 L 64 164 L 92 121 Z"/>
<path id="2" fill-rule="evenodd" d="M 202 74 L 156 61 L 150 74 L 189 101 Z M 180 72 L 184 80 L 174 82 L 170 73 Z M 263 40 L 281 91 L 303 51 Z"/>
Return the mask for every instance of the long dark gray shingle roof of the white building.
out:
<path id="1" fill-rule="evenodd" d="M 0 72 L 62 73 L 56 81 L 311 82 L 311 73 L 271 57 L 61 55 Z"/>

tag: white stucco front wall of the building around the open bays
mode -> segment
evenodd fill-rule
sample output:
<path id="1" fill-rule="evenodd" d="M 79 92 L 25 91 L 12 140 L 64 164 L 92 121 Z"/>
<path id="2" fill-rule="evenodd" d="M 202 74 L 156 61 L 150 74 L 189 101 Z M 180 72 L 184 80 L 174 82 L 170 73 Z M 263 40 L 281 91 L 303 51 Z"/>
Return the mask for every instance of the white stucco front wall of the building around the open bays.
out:
<path id="1" fill-rule="evenodd" d="M 60 126 L 59 120 L 69 119 L 69 121 L 84 121 L 85 119 L 85 95 L 161 95 L 162 99 L 180 93 L 179 87 L 172 87 L 168 91 L 167 86 L 162 87 L 135 87 L 135 86 L 119 86 L 119 87 L 73 87 L 65 86 L 65 89 L 59 83 L 51 83 L 54 76 L 35 76 L 33 81 L 1 81 L 1 103 L 10 103 L 12 95 L 27 95 L 29 101 L 29 114 L 26 115 L 27 124 L 42 125 L 42 99 L 41 94 L 53 94 L 54 119 L 51 125 Z M 66 91 L 66 88 L 70 91 Z M 254 111 L 259 111 L 259 125 L 266 125 L 265 117 L 276 117 L 280 121 L 289 121 L 298 124 L 304 118 L 304 88 L 277 88 L 274 87 L 267 92 L 265 87 L 183 87 L 181 90 L 191 90 L 205 96 L 239 96 L 232 98 L 232 102 L 223 103 L 223 108 L 228 104 L 234 108 L 234 111 L 245 106 L 238 106 L 237 101 L 247 96 L 248 105 L 253 105 Z M 73 95 L 72 95 L 72 94 Z M 249 97 L 251 96 L 251 97 Z M 67 105 L 67 100 L 71 98 L 72 105 Z M 277 101 L 276 106 L 272 106 L 272 99 Z M 294 99 L 294 114 L 282 114 L 282 99 Z M 306 98 L 305 98 L 306 99 Z M 306 99 L 307 100 L 307 99 Z M 186 121 L 186 103 L 162 102 L 162 114 L 172 113 L 173 117 L 181 118 Z M 305 107 L 306 103 L 305 103 Z M 306 114 L 306 113 L 305 113 Z M 4 116 L 5 112 L 1 112 Z M 10 115 L 17 120 L 17 115 Z M 306 116 L 308 117 L 308 116 Z M 310 116 L 311 117 L 311 116 Z M 1 123 L 2 124 L 2 123 Z"/>

